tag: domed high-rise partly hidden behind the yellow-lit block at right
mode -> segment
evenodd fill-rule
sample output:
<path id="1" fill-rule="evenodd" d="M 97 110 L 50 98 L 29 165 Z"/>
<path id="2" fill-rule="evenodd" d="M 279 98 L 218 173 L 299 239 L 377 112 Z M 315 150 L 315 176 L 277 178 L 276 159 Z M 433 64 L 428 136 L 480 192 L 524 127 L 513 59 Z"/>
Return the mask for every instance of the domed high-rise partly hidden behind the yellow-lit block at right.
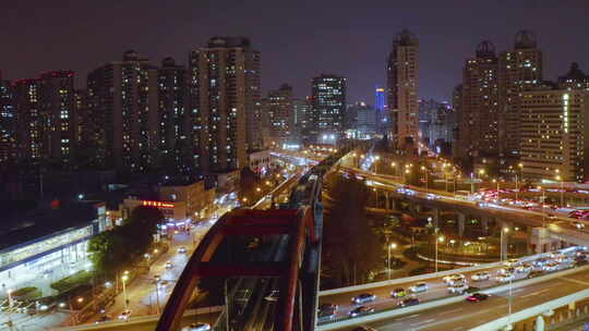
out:
<path id="1" fill-rule="evenodd" d="M 513 51 L 498 57 L 500 154 L 519 155 L 519 95 L 542 82 L 542 51 L 532 32 L 516 35 Z"/>

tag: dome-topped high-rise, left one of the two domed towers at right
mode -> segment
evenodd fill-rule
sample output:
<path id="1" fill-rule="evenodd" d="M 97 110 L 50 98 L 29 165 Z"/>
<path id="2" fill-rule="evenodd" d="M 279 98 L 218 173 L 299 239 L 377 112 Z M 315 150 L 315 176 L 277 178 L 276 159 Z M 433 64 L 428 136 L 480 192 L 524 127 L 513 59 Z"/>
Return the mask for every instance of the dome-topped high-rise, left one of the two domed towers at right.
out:
<path id="1" fill-rule="evenodd" d="M 472 157 L 498 152 L 498 77 L 495 47 L 479 44 L 462 72 L 460 139 Z"/>

